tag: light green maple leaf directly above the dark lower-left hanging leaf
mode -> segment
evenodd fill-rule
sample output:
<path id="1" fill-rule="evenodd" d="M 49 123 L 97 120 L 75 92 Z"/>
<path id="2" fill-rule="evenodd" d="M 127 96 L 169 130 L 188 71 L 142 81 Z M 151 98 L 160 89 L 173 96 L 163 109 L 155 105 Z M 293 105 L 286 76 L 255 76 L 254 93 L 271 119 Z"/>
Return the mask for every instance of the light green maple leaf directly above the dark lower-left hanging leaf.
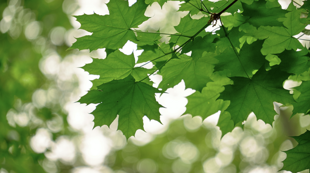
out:
<path id="1" fill-rule="evenodd" d="M 96 59 L 93 58 L 93 62 L 86 64 L 82 67 L 89 74 L 100 75 L 99 79 L 92 81 L 93 87 L 101 85 L 102 83 L 110 82 L 112 80 L 118 80 L 126 78 L 131 74 L 136 81 L 140 81 L 143 78 L 147 77 L 148 69 L 135 66 L 135 57 L 133 54 L 125 55 L 121 51 L 117 50 L 114 53 L 109 54 L 106 59 Z M 147 81 L 146 83 L 152 85 L 152 81 Z"/>

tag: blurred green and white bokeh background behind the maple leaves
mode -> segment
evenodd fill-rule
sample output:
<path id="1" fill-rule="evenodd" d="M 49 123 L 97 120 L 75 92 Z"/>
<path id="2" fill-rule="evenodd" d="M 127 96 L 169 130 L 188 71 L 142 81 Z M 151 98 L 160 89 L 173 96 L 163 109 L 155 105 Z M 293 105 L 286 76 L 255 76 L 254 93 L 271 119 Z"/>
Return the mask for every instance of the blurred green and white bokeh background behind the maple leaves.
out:
<path id="1" fill-rule="evenodd" d="M 220 112 L 205 120 L 181 116 L 186 110 L 185 97 L 194 92 L 185 90 L 183 81 L 156 95 L 165 107 L 159 110 L 162 124 L 144 116 L 145 131 L 138 130 L 128 141 L 117 131 L 117 118 L 110 127 L 93 129 L 94 117 L 89 113 L 96 105 L 75 102 L 98 76 L 78 67 L 91 63 L 91 57 L 105 58 L 105 49 L 91 53 L 66 49 L 74 37 L 91 34 L 78 30 L 80 24 L 72 15 L 108 15 L 108 2 L 0 0 L 0 173 L 274 173 L 281 169 L 286 158 L 282 151 L 297 145 L 290 136 L 310 129 L 309 115 L 290 119 L 292 107 L 279 108 L 281 104 L 274 103 L 279 115 L 272 126 L 252 113 L 221 138 L 216 127 Z M 133 3 L 129 0 L 129 5 Z M 174 26 L 188 14 L 178 11 L 180 3 L 168 1 L 162 8 L 153 3 L 145 13 L 152 18 L 139 29 L 176 33 Z M 279 3 L 286 9 L 290 0 Z M 310 37 L 299 36 L 309 47 L 306 40 Z M 161 41 L 169 37 L 164 35 Z M 134 53 L 137 60 L 143 50 L 136 49 L 128 41 L 121 51 Z M 145 66 L 151 67 L 151 63 Z M 150 78 L 157 87 L 161 76 Z M 287 80 L 284 87 L 299 84 Z"/>

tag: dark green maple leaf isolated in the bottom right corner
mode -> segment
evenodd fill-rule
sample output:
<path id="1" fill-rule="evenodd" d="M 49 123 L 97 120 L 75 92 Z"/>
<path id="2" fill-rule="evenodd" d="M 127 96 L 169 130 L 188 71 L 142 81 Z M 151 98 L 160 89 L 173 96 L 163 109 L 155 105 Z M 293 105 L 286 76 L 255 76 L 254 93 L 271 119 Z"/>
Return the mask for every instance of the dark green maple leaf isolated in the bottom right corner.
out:
<path id="1" fill-rule="evenodd" d="M 296 173 L 310 168 L 310 131 L 307 130 L 302 135 L 293 138 L 298 142 L 298 145 L 293 149 L 284 151 L 286 159 L 283 161 L 281 170 Z"/>

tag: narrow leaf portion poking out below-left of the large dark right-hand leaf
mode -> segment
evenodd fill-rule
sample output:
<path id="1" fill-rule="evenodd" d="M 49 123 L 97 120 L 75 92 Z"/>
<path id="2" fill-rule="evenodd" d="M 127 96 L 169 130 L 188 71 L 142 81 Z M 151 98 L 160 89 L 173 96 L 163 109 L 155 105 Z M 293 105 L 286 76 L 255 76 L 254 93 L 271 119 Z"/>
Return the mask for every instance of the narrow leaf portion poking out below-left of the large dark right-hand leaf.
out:
<path id="1" fill-rule="evenodd" d="M 230 113 L 227 111 L 221 112 L 221 114 L 219 115 L 219 121 L 216 126 L 218 126 L 219 129 L 222 131 L 222 137 L 226 133 L 231 132 L 234 128 L 234 123 L 231 120 Z"/>

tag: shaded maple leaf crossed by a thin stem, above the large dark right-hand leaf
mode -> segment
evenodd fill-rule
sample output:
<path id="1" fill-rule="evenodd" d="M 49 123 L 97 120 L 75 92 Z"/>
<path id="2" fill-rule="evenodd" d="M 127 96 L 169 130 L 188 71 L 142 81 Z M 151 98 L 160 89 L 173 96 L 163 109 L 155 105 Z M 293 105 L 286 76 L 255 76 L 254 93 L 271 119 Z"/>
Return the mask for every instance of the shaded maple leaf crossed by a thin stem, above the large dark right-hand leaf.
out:
<path id="1" fill-rule="evenodd" d="M 231 76 L 239 77 L 252 77 L 252 71 L 258 70 L 264 63 L 265 57 L 260 53 L 263 40 L 257 40 L 252 44 L 245 43 L 239 54 L 231 48 L 228 47 L 226 52 L 215 56 L 219 62 L 215 65 L 215 70 L 225 70 L 228 69 L 231 72 Z"/>

